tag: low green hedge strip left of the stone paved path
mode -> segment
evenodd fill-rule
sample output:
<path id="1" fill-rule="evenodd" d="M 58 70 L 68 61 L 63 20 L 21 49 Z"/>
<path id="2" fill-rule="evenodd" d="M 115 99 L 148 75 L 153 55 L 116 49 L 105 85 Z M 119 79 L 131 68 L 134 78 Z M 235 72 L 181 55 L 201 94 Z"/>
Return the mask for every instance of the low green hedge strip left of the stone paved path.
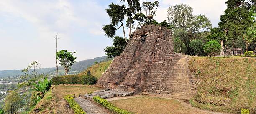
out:
<path id="1" fill-rule="evenodd" d="M 75 114 L 86 114 L 71 95 L 65 96 L 64 99 L 69 103 L 69 106 L 73 109 Z"/>

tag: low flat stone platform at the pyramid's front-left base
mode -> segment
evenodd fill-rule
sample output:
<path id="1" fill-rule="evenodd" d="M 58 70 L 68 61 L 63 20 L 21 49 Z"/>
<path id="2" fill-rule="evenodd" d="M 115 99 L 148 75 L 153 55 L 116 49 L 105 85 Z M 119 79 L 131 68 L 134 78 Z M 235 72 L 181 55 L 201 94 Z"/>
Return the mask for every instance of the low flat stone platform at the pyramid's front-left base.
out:
<path id="1" fill-rule="evenodd" d="M 127 92 L 123 89 L 102 89 L 94 91 L 92 94 L 85 94 L 82 97 L 92 100 L 94 96 L 100 96 L 103 99 L 108 99 L 113 97 L 123 97 L 131 95 L 133 95 L 133 92 Z"/>

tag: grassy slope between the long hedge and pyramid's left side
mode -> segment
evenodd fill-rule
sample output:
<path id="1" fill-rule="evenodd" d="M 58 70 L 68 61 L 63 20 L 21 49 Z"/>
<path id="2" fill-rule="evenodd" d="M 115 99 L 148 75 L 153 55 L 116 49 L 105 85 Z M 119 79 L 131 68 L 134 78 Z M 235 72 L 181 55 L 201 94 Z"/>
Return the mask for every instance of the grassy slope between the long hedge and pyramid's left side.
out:
<path id="1" fill-rule="evenodd" d="M 87 71 L 90 70 L 91 75 L 95 76 L 97 79 L 99 79 L 102 76 L 102 73 L 105 72 L 105 70 L 108 68 L 108 66 L 111 64 L 112 60 L 107 62 L 101 62 L 99 64 L 95 64 L 91 67 L 88 67 L 83 72 L 79 73 L 78 75 L 87 75 Z"/>

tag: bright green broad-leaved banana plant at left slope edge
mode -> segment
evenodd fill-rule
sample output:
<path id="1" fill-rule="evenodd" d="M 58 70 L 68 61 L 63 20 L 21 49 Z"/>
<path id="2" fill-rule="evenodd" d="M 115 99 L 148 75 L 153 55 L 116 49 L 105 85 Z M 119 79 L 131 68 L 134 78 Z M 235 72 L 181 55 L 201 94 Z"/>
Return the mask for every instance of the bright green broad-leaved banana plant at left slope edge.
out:
<path id="1" fill-rule="evenodd" d="M 41 97 L 44 97 L 44 94 L 50 89 L 51 87 L 51 80 L 50 82 L 48 82 L 47 78 L 44 78 L 43 82 L 38 82 L 38 84 L 34 84 L 34 86 L 36 87 L 36 91 L 41 93 Z"/>

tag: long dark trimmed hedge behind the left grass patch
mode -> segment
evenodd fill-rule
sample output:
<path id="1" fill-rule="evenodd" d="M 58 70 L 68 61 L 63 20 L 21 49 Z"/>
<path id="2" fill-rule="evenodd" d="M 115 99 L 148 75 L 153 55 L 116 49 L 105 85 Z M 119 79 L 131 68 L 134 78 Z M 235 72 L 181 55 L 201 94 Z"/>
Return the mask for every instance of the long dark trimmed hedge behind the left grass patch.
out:
<path id="1" fill-rule="evenodd" d="M 94 76 L 67 75 L 52 78 L 52 84 L 95 84 L 97 79 Z"/>

